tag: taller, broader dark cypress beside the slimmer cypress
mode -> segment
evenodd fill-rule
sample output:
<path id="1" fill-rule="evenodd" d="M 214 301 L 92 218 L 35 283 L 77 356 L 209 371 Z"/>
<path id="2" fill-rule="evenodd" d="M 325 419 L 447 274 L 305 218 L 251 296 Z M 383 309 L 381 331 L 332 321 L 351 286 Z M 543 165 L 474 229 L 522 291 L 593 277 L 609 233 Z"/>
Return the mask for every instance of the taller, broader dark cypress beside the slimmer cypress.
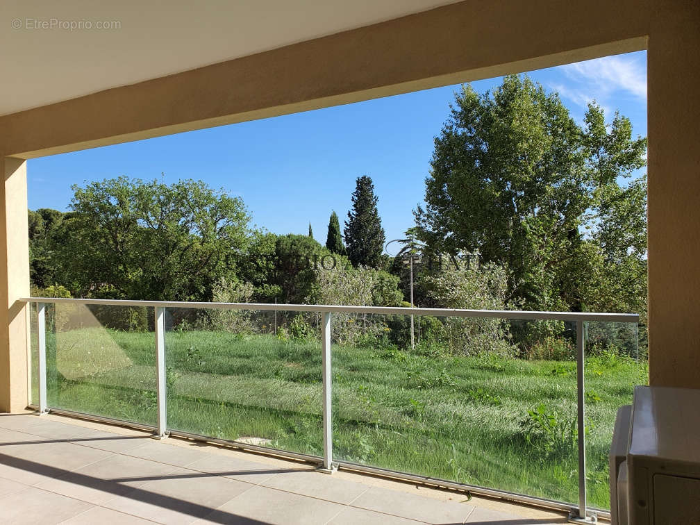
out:
<path id="1" fill-rule="evenodd" d="M 345 221 L 345 243 L 353 265 L 379 267 L 384 250 L 384 228 L 381 227 L 374 184 L 368 176 L 358 177 L 352 194 L 352 209 Z"/>

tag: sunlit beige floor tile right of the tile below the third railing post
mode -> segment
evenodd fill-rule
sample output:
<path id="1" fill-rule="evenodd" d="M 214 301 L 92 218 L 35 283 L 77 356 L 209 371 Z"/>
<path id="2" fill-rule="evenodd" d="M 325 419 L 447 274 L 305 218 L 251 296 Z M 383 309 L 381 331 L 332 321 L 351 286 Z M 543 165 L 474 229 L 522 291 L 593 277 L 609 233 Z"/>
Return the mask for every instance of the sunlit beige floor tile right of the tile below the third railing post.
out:
<path id="1" fill-rule="evenodd" d="M 352 503 L 353 507 L 385 512 L 428 523 L 461 524 L 474 507 L 468 503 L 440 501 L 373 486 Z"/>

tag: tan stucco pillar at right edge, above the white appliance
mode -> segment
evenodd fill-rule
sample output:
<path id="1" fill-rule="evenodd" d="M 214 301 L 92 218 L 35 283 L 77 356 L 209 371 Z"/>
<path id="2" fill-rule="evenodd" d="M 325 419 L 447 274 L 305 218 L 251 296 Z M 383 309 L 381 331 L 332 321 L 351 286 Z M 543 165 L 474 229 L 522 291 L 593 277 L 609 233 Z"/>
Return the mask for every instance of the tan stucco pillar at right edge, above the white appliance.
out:
<path id="1" fill-rule="evenodd" d="M 687 6 L 647 52 L 649 365 L 651 384 L 700 388 L 700 2 Z"/>

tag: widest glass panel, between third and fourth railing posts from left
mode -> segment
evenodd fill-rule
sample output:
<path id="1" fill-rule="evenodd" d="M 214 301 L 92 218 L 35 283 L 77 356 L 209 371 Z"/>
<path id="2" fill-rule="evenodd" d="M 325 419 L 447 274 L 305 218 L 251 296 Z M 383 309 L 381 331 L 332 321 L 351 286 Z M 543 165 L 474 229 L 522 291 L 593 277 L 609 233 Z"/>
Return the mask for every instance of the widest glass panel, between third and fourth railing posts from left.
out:
<path id="1" fill-rule="evenodd" d="M 338 317 L 334 458 L 577 501 L 570 336 L 561 355 L 535 360 L 497 318 L 414 316 L 412 345 L 409 316 Z"/>

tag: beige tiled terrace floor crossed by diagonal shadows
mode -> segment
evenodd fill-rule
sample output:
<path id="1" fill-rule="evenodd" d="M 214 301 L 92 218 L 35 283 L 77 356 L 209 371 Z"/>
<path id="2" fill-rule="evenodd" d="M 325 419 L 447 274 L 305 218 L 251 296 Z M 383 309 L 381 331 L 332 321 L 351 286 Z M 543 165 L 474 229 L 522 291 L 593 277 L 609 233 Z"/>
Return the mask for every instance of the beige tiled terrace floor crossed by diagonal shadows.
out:
<path id="1" fill-rule="evenodd" d="M 0 414 L 3 524 L 550 524 L 561 514 L 60 416 Z"/>

